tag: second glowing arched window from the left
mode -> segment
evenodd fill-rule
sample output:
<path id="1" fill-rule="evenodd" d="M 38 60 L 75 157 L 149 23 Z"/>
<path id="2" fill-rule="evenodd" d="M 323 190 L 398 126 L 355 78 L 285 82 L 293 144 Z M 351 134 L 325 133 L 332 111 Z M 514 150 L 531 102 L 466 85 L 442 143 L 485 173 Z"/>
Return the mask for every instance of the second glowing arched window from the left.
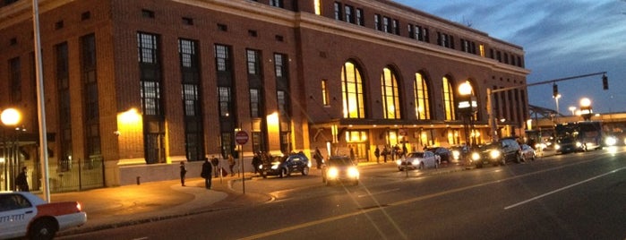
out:
<path id="1" fill-rule="evenodd" d="M 382 114 L 385 119 L 400 119 L 400 99 L 396 74 L 388 67 L 382 69 Z"/>

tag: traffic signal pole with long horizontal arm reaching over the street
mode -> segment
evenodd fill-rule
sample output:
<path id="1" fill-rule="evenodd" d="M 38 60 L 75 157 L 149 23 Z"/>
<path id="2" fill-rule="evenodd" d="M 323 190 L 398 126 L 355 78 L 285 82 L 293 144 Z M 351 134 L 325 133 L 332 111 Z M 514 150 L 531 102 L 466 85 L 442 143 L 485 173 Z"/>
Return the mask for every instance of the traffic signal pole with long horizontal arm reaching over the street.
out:
<path id="1" fill-rule="evenodd" d="M 568 80 L 574 80 L 574 79 L 585 78 L 585 77 L 590 77 L 590 76 L 596 76 L 600 74 L 602 74 L 603 90 L 608 90 L 609 81 L 608 81 L 608 77 L 606 77 L 606 72 L 587 73 L 587 74 L 576 75 L 576 76 L 565 77 L 565 78 L 558 78 L 558 79 L 547 80 L 547 81 L 537 81 L 533 83 L 528 83 L 528 84 L 523 84 L 523 85 L 508 87 L 508 88 L 502 88 L 502 89 L 497 89 L 497 90 L 492 90 L 490 88 L 487 88 L 487 116 L 489 117 L 488 123 L 489 123 L 489 127 L 491 128 L 493 141 L 498 140 L 498 134 L 496 132 L 497 127 L 496 127 L 496 122 L 495 122 L 495 116 L 493 116 L 493 93 L 498 93 L 498 92 L 502 92 L 506 90 L 523 89 L 523 88 L 527 88 L 531 86 L 550 84 L 550 83 L 552 83 L 553 86 L 556 86 L 557 81 L 568 81 Z M 553 87 L 553 90 L 557 90 L 557 87 Z"/>

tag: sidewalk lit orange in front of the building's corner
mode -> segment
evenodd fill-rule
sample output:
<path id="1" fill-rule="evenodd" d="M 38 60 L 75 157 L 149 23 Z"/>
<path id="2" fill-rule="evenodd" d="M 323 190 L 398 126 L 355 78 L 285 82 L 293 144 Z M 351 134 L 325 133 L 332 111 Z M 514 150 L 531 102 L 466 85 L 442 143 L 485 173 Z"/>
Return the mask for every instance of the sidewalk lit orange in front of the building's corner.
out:
<path id="1" fill-rule="evenodd" d="M 246 179 L 253 176 L 246 173 Z M 223 210 L 250 202 L 270 201 L 259 193 L 236 193 L 231 181 L 241 176 L 213 178 L 211 189 L 204 187 L 204 179 L 188 178 L 186 186 L 180 180 L 124 185 L 73 193 L 52 193 L 51 201 L 79 201 L 87 212 L 87 223 L 59 232 L 57 236 L 73 235 L 112 227 L 131 226 L 142 222 Z M 225 201 L 226 200 L 226 201 Z"/>

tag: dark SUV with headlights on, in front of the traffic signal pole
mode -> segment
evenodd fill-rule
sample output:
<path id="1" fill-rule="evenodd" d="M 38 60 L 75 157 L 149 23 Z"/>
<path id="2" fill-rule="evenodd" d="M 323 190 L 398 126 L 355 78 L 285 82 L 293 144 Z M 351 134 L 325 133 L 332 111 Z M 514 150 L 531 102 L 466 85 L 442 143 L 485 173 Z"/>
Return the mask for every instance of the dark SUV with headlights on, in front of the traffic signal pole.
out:
<path id="1" fill-rule="evenodd" d="M 476 167 L 485 164 L 505 165 L 507 162 L 521 162 L 521 147 L 516 138 L 503 138 L 474 148 L 469 156 L 470 163 Z"/>

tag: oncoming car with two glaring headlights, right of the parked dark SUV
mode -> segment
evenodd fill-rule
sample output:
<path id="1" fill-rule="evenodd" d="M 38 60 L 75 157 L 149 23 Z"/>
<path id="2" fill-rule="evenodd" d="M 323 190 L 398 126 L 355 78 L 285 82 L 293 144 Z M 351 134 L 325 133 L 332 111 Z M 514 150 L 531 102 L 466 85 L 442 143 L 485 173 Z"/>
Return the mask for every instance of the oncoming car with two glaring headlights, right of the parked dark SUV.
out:
<path id="1" fill-rule="evenodd" d="M 339 182 L 357 185 L 358 179 L 358 168 L 347 156 L 332 156 L 322 166 L 322 183 L 326 185 Z"/>

